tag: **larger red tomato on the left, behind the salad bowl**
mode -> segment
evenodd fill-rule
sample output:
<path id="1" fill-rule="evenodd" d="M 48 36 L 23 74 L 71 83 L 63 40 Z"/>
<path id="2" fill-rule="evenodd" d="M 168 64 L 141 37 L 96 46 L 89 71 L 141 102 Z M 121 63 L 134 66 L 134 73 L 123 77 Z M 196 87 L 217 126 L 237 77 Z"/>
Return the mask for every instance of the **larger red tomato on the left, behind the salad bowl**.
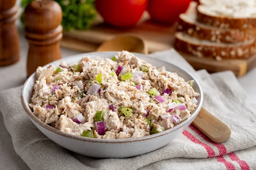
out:
<path id="1" fill-rule="evenodd" d="M 105 22 L 117 27 L 135 26 L 148 0 L 96 0 L 96 9 Z"/>

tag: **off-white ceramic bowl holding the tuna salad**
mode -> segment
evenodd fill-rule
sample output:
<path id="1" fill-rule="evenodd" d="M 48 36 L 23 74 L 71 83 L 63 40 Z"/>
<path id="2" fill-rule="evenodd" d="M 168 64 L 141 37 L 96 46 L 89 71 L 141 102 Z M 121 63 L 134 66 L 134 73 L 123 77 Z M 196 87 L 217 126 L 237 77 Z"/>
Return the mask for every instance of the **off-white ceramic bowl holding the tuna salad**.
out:
<path id="1" fill-rule="evenodd" d="M 59 59 L 55 62 L 49 63 L 45 65 L 43 68 L 53 64 L 56 67 L 60 64 L 61 61 L 67 63 L 78 63 L 82 57 L 90 56 L 90 58 L 94 57 L 104 57 L 104 58 L 112 58 L 116 55 L 117 52 L 92 52 L 74 55 L 71 57 Z M 180 77 L 188 80 L 195 80 L 189 73 L 181 69 L 180 67 L 173 65 L 172 63 L 155 59 L 153 57 L 143 55 L 143 54 L 135 54 L 140 59 L 145 60 L 146 62 L 160 68 L 162 66 L 166 67 L 167 71 L 176 72 Z M 49 139 L 53 142 L 61 145 L 62 147 L 67 148 L 68 150 L 72 150 L 76 153 L 80 153 L 86 156 L 93 156 L 98 158 L 126 158 L 131 156 L 137 156 L 144 153 L 151 152 L 153 150 L 157 150 L 160 147 L 165 146 L 169 142 L 171 142 L 175 137 L 180 135 L 183 130 L 185 130 L 198 115 L 198 112 L 201 109 L 203 102 L 203 93 L 200 85 L 195 80 L 194 89 L 201 96 L 198 97 L 198 106 L 195 109 L 192 116 L 189 119 L 186 119 L 184 122 L 179 125 L 165 130 L 161 133 L 157 133 L 154 135 L 144 136 L 140 138 L 130 138 L 130 139 L 94 139 L 94 138 L 86 138 L 82 136 L 71 135 L 69 133 L 62 132 L 57 130 L 44 122 L 41 122 L 33 113 L 31 108 L 29 108 L 29 103 L 31 101 L 31 97 L 33 94 L 33 85 L 35 84 L 35 73 L 32 74 L 25 82 L 23 89 L 21 91 L 21 102 L 24 110 L 26 111 L 29 119 L 35 124 L 35 126 L 44 133 Z"/>

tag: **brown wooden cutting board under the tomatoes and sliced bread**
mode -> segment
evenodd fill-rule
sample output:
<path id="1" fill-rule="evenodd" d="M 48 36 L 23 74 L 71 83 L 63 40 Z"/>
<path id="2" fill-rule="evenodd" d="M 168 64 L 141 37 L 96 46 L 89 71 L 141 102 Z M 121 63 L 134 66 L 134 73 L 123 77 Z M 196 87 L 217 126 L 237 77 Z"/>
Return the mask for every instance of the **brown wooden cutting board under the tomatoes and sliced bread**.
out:
<path id="1" fill-rule="evenodd" d="M 188 13 L 193 13 L 195 3 L 192 3 Z M 142 17 L 138 26 L 134 28 L 114 28 L 97 19 L 95 25 L 86 31 L 68 31 L 63 33 L 61 46 L 79 51 L 96 51 L 98 46 L 111 38 L 121 34 L 140 35 L 146 43 L 149 53 L 155 51 L 168 50 L 174 47 L 174 33 L 177 25 L 159 26 L 151 23 L 147 13 Z M 248 59 L 223 59 L 216 61 L 212 58 L 198 58 L 178 51 L 196 70 L 206 69 L 208 72 L 218 72 L 231 70 L 236 76 L 243 76 L 256 66 L 256 55 Z M 172 56 L 170 56 L 172 57 Z"/>

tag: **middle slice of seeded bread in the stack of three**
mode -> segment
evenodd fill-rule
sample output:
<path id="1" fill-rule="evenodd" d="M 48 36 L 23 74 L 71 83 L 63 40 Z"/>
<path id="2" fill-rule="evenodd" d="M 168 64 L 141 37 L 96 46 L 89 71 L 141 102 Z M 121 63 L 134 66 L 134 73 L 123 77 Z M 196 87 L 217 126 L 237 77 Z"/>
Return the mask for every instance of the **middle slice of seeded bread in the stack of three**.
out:
<path id="1" fill-rule="evenodd" d="M 255 37 L 254 29 L 240 31 L 239 29 L 218 28 L 207 26 L 196 20 L 196 15 L 180 14 L 178 31 L 186 32 L 192 37 L 214 42 L 240 42 Z"/>

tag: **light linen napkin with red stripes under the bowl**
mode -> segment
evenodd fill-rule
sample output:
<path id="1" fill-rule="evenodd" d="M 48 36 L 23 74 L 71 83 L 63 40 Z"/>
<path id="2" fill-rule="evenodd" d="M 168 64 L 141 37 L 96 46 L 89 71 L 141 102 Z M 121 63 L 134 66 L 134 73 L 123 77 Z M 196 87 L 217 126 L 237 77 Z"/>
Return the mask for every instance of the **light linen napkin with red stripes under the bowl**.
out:
<path id="1" fill-rule="evenodd" d="M 141 156 L 126 159 L 83 156 L 55 144 L 32 124 L 23 111 L 18 87 L 0 92 L 0 111 L 17 155 L 32 170 L 256 169 L 256 106 L 233 73 L 195 72 L 174 50 L 153 56 L 179 65 L 199 80 L 204 91 L 204 108 L 230 127 L 229 140 L 215 144 L 190 125 L 170 144 Z"/>

